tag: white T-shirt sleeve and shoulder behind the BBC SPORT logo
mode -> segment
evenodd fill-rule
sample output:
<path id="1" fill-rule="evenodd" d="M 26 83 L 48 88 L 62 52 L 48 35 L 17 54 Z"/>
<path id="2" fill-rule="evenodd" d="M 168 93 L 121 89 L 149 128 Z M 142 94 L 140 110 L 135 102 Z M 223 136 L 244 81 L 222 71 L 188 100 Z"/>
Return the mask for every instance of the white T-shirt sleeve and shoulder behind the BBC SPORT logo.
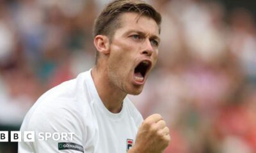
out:
<path id="1" fill-rule="evenodd" d="M 35 142 L 20 142 L 20 152 L 58 152 L 58 143 L 53 134 L 70 133 L 65 141 L 84 145 L 88 138 L 88 126 L 92 126 L 92 98 L 86 85 L 86 74 L 45 92 L 32 106 L 22 122 L 21 132 L 34 131 Z M 51 133 L 47 141 L 41 134 Z M 46 138 L 46 137 L 45 137 Z M 28 151 L 29 150 L 29 151 Z M 51 150 L 51 151 L 49 151 Z"/>

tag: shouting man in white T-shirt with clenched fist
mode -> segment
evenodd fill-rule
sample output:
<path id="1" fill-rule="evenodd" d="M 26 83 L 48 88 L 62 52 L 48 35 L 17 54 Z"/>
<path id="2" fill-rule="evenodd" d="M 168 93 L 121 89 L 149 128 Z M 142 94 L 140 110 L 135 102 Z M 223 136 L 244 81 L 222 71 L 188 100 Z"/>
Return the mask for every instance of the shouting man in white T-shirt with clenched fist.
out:
<path id="1" fill-rule="evenodd" d="M 141 0 L 108 4 L 95 21 L 95 66 L 41 96 L 20 131 L 25 152 L 160 153 L 170 142 L 161 115 L 143 120 L 127 94 L 140 94 L 157 61 L 161 15 Z M 74 133 L 40 140 L 42 133 Z M 62 135 L 62 134 L 61 134 Z M 57 136 L 58 137 L 58 136 Z"/>

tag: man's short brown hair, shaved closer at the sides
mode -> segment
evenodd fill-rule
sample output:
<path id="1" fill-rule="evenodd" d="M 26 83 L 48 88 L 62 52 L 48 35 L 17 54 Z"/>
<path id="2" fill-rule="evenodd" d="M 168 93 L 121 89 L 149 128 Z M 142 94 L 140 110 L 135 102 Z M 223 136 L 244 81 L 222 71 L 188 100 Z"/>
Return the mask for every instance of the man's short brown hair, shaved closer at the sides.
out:
<path id="1" fill-rule="evenodd" d="M 116 0 L 109 3 L 96 18 L 93 26 L 93 38 L 102 34 L 111 40 L 116 29 L 121 27 L 120 20 L 118 20 L 120 15 L 126 12 L 134 12 L 153 18 L 159 26 L 160 33 L 161 15 L 150 4 L 142 0 Z M 96 62 L 98 56 L 99 53 L 97 52 Z"/>

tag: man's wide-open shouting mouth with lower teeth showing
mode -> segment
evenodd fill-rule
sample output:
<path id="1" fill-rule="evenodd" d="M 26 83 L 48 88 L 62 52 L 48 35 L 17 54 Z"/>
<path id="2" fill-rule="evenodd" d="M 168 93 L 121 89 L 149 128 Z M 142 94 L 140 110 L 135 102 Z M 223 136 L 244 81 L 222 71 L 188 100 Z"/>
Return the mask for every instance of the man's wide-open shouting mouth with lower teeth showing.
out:
<path id="1" fill-rule="evenodd" d="M 138 66 L 134 69 L 134 80 L 136 82 L 144 82 L 144 78 L 150 69 L 151 62 L 150 61 L 141 61 Z"/>

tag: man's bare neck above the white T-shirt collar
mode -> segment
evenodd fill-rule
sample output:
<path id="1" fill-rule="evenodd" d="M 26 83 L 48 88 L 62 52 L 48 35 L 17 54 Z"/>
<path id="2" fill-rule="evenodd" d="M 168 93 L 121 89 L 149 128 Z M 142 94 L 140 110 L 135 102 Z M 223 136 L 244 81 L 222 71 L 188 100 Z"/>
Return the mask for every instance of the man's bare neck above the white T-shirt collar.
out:
<path id="1" fill-rule="evenodd" d="M 104 106 L 112 113 L 119 113 L 127 94 L 112 84 L 106 69 L 100 69 L 99 66 L 93 67 L 92 78 Z"/>

